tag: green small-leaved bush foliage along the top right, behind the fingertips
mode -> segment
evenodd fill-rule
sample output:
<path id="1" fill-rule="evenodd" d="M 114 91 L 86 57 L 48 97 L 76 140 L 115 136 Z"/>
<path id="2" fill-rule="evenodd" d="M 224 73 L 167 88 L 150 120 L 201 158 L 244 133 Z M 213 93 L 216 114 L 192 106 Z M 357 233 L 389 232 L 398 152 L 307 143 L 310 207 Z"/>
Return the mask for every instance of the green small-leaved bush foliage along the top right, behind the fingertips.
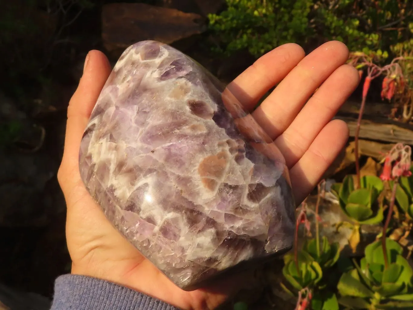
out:
<path id="1" fill-rule="evenodd" d="M 209 15 L 220 52 L 247 49 L 259 57 L 294 42 L 311 48 L 328 40 L 352 51 L 386 58 L 391 46 L 411 39 L 409 0 L 226 0 L 227 8 Z"/>

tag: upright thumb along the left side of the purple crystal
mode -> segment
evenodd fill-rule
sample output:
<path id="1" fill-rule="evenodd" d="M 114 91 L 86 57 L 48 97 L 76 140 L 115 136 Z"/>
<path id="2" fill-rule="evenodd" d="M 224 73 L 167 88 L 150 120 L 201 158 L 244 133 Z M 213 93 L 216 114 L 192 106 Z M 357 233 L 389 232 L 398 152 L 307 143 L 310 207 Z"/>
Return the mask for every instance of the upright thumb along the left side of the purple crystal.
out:
<path id="1" fill-rule="evenodd" d="M 81 183 L 78 156 L 83 132 L 110 72 L 107 57 L 98 50 L 91 50 L 86 56 L 83 76 L 67 108 L 64 152 L 57 178 L 68 205 L 69 196 L 77 192 L 74 189 Z"/>

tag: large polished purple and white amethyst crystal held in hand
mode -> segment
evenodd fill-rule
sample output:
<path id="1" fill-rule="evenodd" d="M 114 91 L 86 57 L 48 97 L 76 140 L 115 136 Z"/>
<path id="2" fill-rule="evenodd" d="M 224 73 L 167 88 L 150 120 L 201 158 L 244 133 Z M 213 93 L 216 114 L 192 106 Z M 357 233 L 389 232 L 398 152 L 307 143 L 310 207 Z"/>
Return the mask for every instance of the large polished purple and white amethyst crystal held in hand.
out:
<path id="1" fill-rule="evenodd" d="M 110 222 L 192 290 L 292 246 L 284 159 L 236 96 L 156 41 L 123 52 L 85 130 L 83 182 Z"/>

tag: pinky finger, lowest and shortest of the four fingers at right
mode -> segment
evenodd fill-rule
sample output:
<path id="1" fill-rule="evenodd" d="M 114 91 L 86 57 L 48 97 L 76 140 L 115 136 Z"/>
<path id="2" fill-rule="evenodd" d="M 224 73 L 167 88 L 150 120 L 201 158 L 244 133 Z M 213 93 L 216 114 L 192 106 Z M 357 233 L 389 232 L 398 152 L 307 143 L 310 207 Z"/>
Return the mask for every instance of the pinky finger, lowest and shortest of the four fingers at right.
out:
<path id="1" fill-rule="evenodd" d="M 345 122 L 338 119 L 329 122 L 301 159 L 291 168 L 292 191 L 297 205 L 318 184 L 324 172 L 347 143 L 348 137 L 349 129 Z"/>

